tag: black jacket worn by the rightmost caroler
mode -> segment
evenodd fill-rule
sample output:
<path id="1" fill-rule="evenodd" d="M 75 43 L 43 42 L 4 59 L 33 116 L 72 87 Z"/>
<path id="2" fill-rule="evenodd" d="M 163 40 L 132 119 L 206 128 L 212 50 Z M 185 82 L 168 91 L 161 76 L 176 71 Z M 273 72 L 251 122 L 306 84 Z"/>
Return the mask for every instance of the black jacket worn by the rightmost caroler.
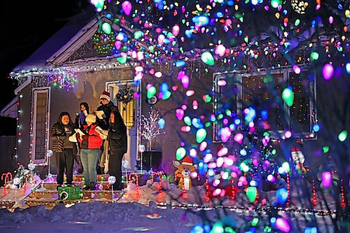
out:
<path id="1" fill-rule="evenodd" d="M 127 127 L 123 122 L 110 125 L 108 138 L 110 150 L 124 150 L 127 153 Z"/>

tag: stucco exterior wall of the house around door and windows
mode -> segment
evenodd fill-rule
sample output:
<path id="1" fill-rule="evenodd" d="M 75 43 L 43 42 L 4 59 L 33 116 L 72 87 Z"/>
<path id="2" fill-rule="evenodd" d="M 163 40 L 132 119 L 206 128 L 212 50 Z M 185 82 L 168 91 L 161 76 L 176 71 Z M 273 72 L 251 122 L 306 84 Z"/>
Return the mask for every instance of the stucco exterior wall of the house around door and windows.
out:
<path id="1" fill-rule="evenodd" d="M 162 150 L 162 168 L 167 171 L 167 174 L 174 174 L 176 169 L 172 161 L 175 159 L 176 148 L 181 146 L 181 143 L 185 145 L 190 145 L 195 143 L 195 131 L 190 133 L 183 133 L 179 129 L 185 124 L 183 121 L 176 119 L 176 108 L 179 106 L 187 106 L 190 111 L 186 111 L 186 114 L 195 113 L 198 115 L 208 115 L 212 111 L 211 104 L 205 104 L 202 97 L 204 94 L 208 94 L 212 89 L 212 76 L 213 73 L 207 67 L 200 66 L 199 63 L 190 64 L 188 66 L 188 76 L 190 76 L 190 87 L 184 89 L 181 85 L 180 80 L 177 78 L 179 69 L 171 65 L 153 66 L 155 71 L 162 71 L 162 78 L 155 78 L 154 76 L 145 75 L 142 83 L 142 113 L 148 116 L 151 105 L 146 101 L 146 85 L 148 83 L 153 83 L 157 90 L 162 84 L 164 78 L 167 80 L 169 85 L 169 90 L 172 91 L 172 96 L 166 100 L 162 101 L 158 99 L 158 102 L 152 107 L 160 112 L 162 118 L 165 119 L 165 129 L 162 132 L 165 134 L 158 135 L 153 141 L 153 149 Z M 90 105 L 90 111 L 94 111 L 97 106 L 99 106 L 99 95 L 102 90 L 105 90 L 106 82 L 113 80 L 131 80 L 134 78 L 133 69 L 113 69 L 106 71 L 92 71 L 78 73 L 76 87 L 73 90 L 64 90 L 57 87 L 51 87 L 51 102 L 50 102 L 50 127 L 57 121 L 57 117 L 60 112 L 67 111 L 74 118 L 76 113 L 79 111 L 79 103 L 81 101 L 86 101 Z M 341 83 L 339 83 L 341 85 Z M 27 164 L 29 162 L 29 139 L 30 139 L 30 127 L 31 127 L 31 87 L 35 85 L 29 85 L 25 87 L 20 94 L 20 131 L 22 132 L 22 142 L 18 146 L 19 160 L 22 164 Z M 176 90 L 176 91 L 175 91 Z M 186 91 L 195 90 L 195 94 L 191 97 L 186 96 Z M 345 90 L 344 90 L 345 91 Z M 317 83 L 317 105 L 321 108 L 329 106 L 330 93 L 324 94 L 325 92 L 331 92 L 327 88 L 327 83 L 323 80 Z M 158 94 L 158 93 L 157 93 Z M 319 164 L 325 159 L 321 148 L 322 146 L 329 146 L 331 141 L 328 135 L 329 127 L 332 130 L 340 131 L 340 129 L 349 127 L 349 122 L 341 122 L 337 119 L 338 115 L 341 115 L 344 119 L 349 119 L 349 101 L 346 100 L 345 92 L 339 91 L 339 95 L 333 96 L 332 101 L 336 104 L 332 105 L 332 108 L 339 108 L 337 112 L 336 109 L 332 109 L 327 114 L 323 114 L 322 118 L 318 119 L 321 125 L 325 125 L 325 129 L 321 130 L 318 134 L 317 140 L 304 141 L 304 146 L 302 151 L 306 157 L 306 161 L 311 166 L 312 169 L 317 169 Z M 193 110 L 193 101 L 197 100 L 199 108 Z M 347 106 L 347 107 L 346 107 Z M 323 111 L 325 111 L 323 109 Z M 339 113 L 339 114 L 338 114 Z M 185 115 L 186 115 L 185 114 Z M 189 115 L 193 117 L 194 115 Z M 325 124 L 325 122 L 327 122 Z M 328 127 L 328 128 L 327 128 Z M 211 128 L 207 128 L 208 135 L 207 139 L 211 139 Z M 339 132 L 338 132 L 339 133 Z M 142 139 L 141 143 L 147 144 L 147 142 Z M 292 141 L 283 142 L 283 146 L 286 149 L 290 149 L 293 146 Z M 218 143 L 213 143 L 209 147 L 215 148 L 220 146 Z M 290 153 L 290 150 L 282 151 L 279 150 L 278 153 Z M 331 151 L 330 153 L 337 153 L 337 151 Z M 344 153 L 344 156 L 349 155 L 349 151 L 342 150 L 340 153 Z M 52 160 L 55 160 L 52 157 Z M 41 168 L 42 169 L 42 168 Z M 55 173 L 55 161 L 52 161 L 51 171 Z"/>

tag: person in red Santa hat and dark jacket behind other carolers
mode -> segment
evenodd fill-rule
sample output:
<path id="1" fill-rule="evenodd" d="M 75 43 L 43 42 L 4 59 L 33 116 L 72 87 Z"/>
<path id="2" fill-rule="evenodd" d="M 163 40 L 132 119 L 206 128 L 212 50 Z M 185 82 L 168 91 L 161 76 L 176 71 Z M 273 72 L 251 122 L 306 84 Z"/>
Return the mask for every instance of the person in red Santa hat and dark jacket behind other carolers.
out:
<path id="1" fill-rule="evenodd" d="M 103 91 L 99 99 L 101 100 L 101 105 L 97 108 L 97 111 L 104 111 L 104 116 L 102 119 L 97 119 L 97 125 L 102 129 L 109 129 L 109 117 L 112 111 L 118 111 L 117 106 L 111 101 L 110 93 Z M 106 157 L 108 156 L 108 140 L 104 140 L 104 146 L 101 148 L 102 154 L 99 158 L 99 167 L 97 168 L 100 174 L 104 174 L 107 171 L 105 169 Z"/>

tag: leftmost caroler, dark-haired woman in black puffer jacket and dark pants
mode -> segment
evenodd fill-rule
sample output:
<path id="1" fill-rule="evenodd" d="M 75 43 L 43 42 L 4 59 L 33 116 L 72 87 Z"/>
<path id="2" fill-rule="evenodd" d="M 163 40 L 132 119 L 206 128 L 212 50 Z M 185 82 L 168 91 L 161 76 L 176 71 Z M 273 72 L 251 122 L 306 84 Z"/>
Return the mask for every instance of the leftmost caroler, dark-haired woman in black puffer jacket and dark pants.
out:
<path id="1" fill-rule="evenodd" d="M 76 143 L 69 141 L 69 136 L 73 134 L 71 117 L 69 113 L 62 112 L 50 131 L 52 151 L 56 155 L 57 188 L 63 185 L 64 169 L 66 169 L 66 185 L 72 185 L 73 182 L 74 156 L 77 152 Z"/>

